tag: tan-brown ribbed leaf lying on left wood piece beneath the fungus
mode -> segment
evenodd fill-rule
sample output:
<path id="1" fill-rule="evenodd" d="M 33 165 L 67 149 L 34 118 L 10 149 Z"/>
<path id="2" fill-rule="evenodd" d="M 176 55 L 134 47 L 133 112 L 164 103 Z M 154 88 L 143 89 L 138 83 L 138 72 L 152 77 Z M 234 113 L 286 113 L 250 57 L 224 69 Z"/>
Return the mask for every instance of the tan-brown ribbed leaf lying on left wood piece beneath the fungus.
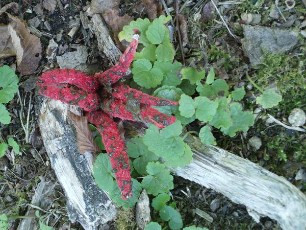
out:
<path id="1" fill-rule="evenodd" d="M 85 151 L 92 153 L 100 151 L 93 141 L 87 118 L 75 115 L 70 111 L 68 111 L 68 117 L 71 119 L 75 129 L 77 130 L 78 148 L 80 153 L 84 154 Z"/>

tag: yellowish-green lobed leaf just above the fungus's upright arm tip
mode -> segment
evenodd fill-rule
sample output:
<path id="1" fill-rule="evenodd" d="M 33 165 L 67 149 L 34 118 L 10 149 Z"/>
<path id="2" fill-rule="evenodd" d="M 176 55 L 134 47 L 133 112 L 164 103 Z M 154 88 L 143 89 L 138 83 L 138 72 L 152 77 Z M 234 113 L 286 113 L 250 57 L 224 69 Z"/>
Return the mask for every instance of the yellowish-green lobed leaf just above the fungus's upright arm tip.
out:
<path id="1" fill-rule="evenodd" d="M 148 26 L 151 24 L 149 19 L 141 19 L 137 18 L 136 21 L 131 21 L 129 26 L 124 26 L 122 31 L 118 34 L 119 41 L 126 40 L 131 42 L 132 37 L 135 34 L 133 31 L 134 29 L 139 30 L 140 32 L 140 40 L 139 43 L 144 45 L 148 45 L 150 42 L 146 38 L 145 31 L 147 30 Z"/>

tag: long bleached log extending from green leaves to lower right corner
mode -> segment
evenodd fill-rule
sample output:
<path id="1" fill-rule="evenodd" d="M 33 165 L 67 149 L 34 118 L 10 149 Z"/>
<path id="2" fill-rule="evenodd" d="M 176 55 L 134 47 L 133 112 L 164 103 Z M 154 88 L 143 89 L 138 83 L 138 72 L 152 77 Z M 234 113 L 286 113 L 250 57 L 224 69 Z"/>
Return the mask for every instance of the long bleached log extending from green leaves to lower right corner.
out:
<path id="1" fill-rule="evenodd" d="M 185 142 L 194 152 L 193 162 L 172 170 L 175 175 L 222 193 L 276 220 L 283 229 L 306 229 L 306 196 L 284 177 L 218 147 L 205 146 L 195 136 L 189 135 Z"/>

